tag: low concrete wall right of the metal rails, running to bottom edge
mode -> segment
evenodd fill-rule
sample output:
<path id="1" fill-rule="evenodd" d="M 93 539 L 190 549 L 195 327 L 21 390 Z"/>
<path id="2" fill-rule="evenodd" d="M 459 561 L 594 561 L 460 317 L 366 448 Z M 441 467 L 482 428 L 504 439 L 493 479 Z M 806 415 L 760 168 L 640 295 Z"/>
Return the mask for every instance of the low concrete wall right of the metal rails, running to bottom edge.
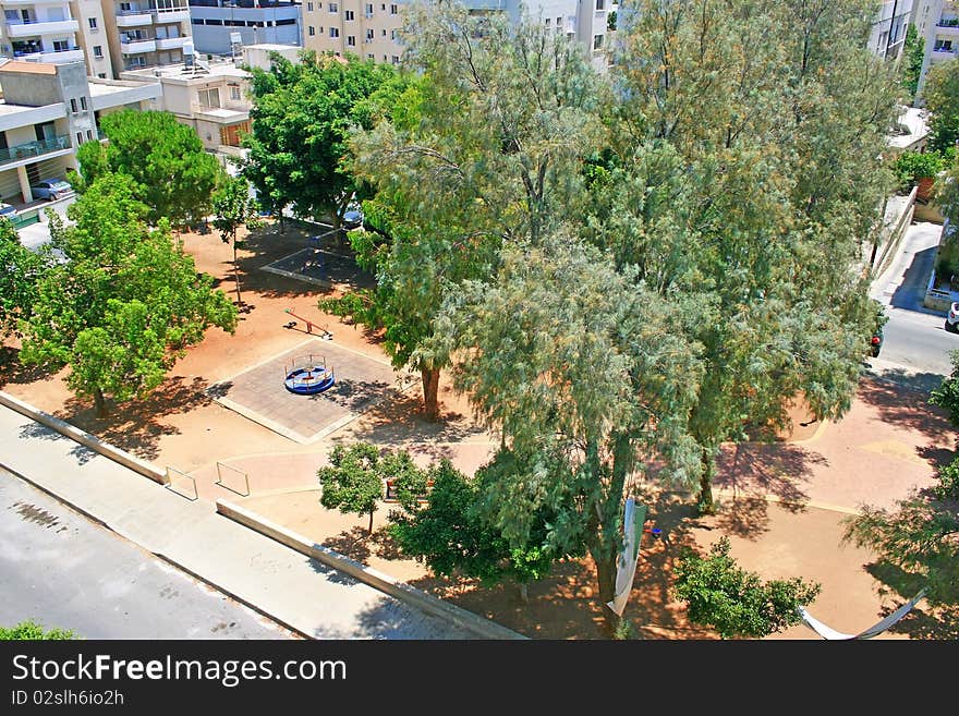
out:
<path id="1" fill-rule="evenodd" d="M 350 559 L 345 555 L 333 551 L 329 547 L 316 544 L 306 537 L 296 534 L 286 527 L 270 522 L 265 518 L 228 500 L 217 500 L 217 512 L 234 522 L 254 530 L 267 537 L 276 539 L 296 551 L 321 561 L 324 565 L 349 574 L 353 579 L 368 584 L 392 597 L 396 597 L 421 611 L 451 621 L 457 627 L 473 632 L 482 639 L 526 639 L 511 629 L 484 619 L 472 611 L 462 609 L 453 604 L 438 599 L 421 590 L 410 586 L 389 574 L 384 574 L 375 569 Z"/>

